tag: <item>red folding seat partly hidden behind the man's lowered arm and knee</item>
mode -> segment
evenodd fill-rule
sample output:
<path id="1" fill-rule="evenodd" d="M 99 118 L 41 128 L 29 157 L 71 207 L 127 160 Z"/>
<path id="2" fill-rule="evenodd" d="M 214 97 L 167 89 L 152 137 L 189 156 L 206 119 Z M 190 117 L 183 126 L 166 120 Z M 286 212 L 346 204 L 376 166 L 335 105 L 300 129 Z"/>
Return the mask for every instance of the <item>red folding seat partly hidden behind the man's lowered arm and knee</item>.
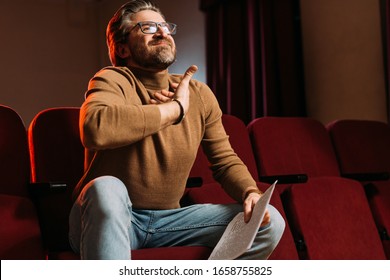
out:
<path id="1" fill-rule="evenodd" d="M 222 116 L 222 123 L 226 133 L 229 135 L 229 141 L 234 151 L 248 167 L 248 170 L 252 174 L 253 178 L 258 180 L 257 166 L 244 122 L 235 116 L 224 114 Z M 192 167 L 190 176 L 201 177 L 203 179 L 203 185 L 197 188 L 190 188 L 187 193 L 187 199 L 190 201 L 190 203 L 236 203 L 235 200 L 233 200 L 224 192 L 219 183 L 213 179 L 209 165 L 210 164 L 207 160 L 207 157 L 200 148 L 195 163 Z M 268 186 L 268 183 L 258 182 L 258 187 L 262 191 L 265 191 Z M 286 218 L 277 190 L 275 190 L 271 198 L 271 204 L 278 209 L 284 218 Z M 298 253 L 295 249 L 294 240 L 292 238 L 288 224 L 286 225 L 285 232 L 279 242 L 278 247 L 274 250 L 270 256 L 270 259 L 298 259 Z"/>

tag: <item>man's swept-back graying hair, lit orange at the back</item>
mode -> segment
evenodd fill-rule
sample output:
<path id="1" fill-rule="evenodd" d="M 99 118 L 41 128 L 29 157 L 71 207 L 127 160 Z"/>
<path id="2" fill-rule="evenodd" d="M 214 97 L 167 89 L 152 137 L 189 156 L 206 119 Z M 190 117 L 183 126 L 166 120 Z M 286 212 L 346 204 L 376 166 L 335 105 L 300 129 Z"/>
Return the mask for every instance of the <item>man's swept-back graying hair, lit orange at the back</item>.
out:
<path id="1" fill-rule="evenodd" d="M 108 23 L 106 30 L 106 40 L 112 65 L 126 65 L 126 61 L 117 55 L 117 47 L 118 44 L 124 43 L 126 41 L 126 37 L 132 25 L 133 15 L 144 10 L 155 11 L 164 18 L 163 14 L 155 3 L 147 0 L 132 0 L 122 5 L 122 7 L 119 8 L 119 10 L 114 14 Z"/>

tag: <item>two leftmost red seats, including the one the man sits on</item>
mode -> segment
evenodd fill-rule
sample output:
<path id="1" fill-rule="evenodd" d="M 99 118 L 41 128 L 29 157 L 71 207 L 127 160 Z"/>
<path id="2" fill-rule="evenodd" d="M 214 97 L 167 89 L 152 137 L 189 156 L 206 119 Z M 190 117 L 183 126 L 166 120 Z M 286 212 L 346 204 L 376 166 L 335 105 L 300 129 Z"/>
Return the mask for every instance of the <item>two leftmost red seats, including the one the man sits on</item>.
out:
<path id="1" fill-rule="evenodd" d="M 84 165 L 78 120 L 79 108 L 48 109 L 26 131 L 17 112 L 0 106 L 0 259 L 79 259 L 67 236 L 71 193 Z M 200 246 L 131 252 L 139 260 L 210 253 Z"/>

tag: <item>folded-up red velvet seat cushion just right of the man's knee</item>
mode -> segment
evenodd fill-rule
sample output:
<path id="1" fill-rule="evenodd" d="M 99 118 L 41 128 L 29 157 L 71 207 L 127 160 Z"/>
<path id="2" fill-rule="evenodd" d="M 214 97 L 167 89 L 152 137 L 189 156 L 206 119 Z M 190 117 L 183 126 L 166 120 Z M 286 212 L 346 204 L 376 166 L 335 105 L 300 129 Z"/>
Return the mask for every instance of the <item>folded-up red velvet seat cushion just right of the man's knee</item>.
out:
<path id="1" fill-rule="evenodd" d="M 308 259 L 385 259 L 362 186 L 344 178 L 312 178 L 286 192 L 286 211 Z"/>

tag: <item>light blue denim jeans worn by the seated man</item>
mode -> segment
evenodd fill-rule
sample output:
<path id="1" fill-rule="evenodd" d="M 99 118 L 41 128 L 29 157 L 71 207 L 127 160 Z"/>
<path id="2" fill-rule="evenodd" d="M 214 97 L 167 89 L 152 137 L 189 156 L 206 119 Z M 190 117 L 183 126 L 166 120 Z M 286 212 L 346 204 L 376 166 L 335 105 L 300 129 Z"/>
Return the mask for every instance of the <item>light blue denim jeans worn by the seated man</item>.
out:
<path id="1" fill-rule="evenodd" d="M 85 186 L 69 217 L 69 240 L 82 259 L 131 259 L 131 250 L 168 246 L 215 247 L 240 204 L 197 204 L 171 210 L 133 209 L 126 186 L 103 176 Z M 271 223 L 239 259 L 267 259 L 284 231 L 284 220 L 269 206 Z"/>

